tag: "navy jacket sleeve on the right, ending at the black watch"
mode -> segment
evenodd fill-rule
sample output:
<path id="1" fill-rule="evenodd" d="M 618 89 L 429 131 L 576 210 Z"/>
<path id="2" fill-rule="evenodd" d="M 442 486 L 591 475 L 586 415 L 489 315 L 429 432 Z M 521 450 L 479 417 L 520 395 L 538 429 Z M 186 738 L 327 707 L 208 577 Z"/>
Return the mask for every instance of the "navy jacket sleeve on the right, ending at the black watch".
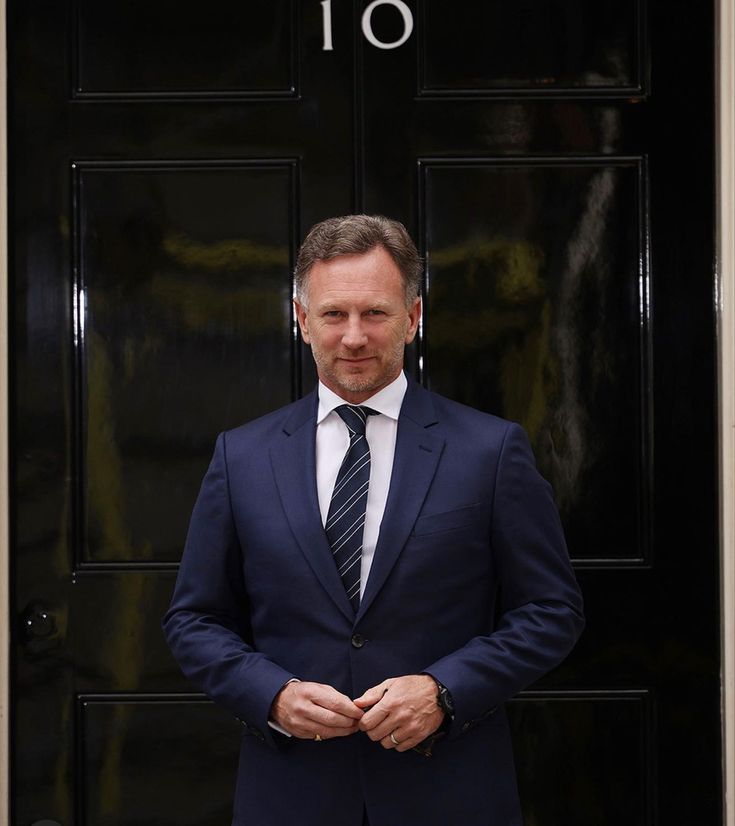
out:
<path id="1" fill-rule="evenodd" d="M 506 431 L 498 461 L 490 546 L 498 583 L 494 629 L 425 669 L 452 694 L 450 737 L 560 663 L 584 627 L 551 487 L 515 424 Z"/>

